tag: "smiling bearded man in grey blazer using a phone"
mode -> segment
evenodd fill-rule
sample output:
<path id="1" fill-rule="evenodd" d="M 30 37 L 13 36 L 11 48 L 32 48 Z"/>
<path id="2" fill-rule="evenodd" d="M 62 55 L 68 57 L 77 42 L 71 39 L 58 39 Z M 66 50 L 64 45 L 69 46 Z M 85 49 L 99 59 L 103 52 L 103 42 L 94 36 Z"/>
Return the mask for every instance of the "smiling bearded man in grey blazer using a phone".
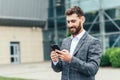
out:
<path id="1" fill-rule="evenodd" d="M 52 68 L 62 71 L 61 80 L 95 80 L 102 53 L 100 41 L 83 29 L 85 17 L 80 7 L 65 14 L 71 36 L 63 40 L 61 50 L 51 52 Z"/>

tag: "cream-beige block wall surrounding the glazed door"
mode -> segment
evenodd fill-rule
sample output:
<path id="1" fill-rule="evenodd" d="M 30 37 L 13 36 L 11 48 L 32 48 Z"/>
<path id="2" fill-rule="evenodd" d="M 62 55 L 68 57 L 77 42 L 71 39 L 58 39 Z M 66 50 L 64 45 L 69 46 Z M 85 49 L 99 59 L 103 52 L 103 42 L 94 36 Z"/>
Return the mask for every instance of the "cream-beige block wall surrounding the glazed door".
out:
<path id="1" fill-rule="evenodd" d="M 10 42 L 20 43 L 20 62 L 43 61 L 42 29 L 0 26 L 0 64 L 10 64 Z"/>

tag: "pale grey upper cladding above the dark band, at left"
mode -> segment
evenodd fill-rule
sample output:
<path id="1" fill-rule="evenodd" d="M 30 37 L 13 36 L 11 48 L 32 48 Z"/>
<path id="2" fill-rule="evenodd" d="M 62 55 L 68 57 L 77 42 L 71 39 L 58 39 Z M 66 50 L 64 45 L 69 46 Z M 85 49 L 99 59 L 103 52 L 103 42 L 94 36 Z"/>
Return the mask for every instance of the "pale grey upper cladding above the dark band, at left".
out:
<path id="1" fill-rule="evenodd" d="M 46 20 L 48 0 L 0 0 L 0 18 Z"/>

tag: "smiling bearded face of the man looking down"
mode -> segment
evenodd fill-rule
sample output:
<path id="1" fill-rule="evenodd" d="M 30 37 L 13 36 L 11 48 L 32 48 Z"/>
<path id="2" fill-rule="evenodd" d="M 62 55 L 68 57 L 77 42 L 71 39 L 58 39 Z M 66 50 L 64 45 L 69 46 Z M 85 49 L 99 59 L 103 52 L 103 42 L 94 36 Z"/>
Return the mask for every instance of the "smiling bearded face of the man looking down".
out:
<path id="1" fill-rule="evenodd" d="M 72 14 L 69 16 L 66 16 L 67 20 L 67 26 L 69 28 L 69 31 L 72 35 L 77 35 L 80 33 L 80 31 L 83 28 L 84 20 L 82 17 L 78 17 L 77 14 Z"/>

